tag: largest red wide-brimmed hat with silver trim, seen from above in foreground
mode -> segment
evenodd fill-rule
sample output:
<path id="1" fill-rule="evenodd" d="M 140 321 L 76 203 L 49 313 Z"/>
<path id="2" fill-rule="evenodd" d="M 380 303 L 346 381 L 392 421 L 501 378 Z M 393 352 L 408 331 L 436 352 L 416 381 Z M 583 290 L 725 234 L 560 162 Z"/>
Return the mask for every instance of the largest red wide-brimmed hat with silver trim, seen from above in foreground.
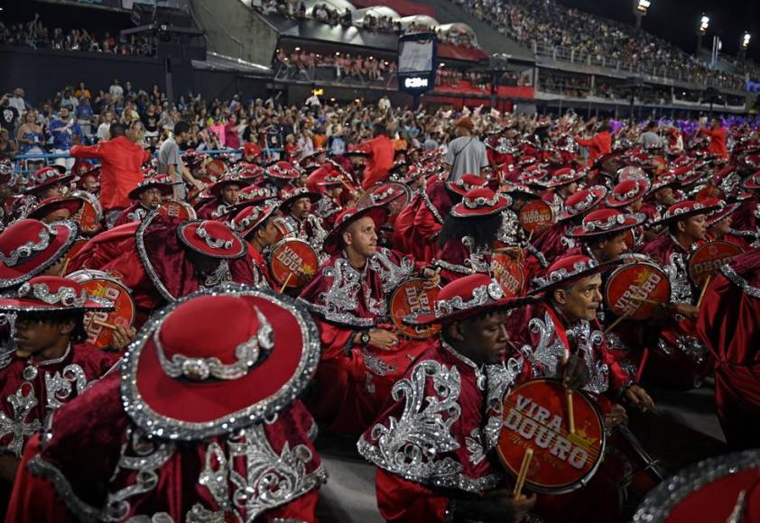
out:
<path id="1" fill-rule="evenodd" d="M 235 284 L 162 308 L 124 357 L 126 414 L 149 436 L 195 441 L 264 424 L 298 398 L 320 334 L 295 300 Z"/>

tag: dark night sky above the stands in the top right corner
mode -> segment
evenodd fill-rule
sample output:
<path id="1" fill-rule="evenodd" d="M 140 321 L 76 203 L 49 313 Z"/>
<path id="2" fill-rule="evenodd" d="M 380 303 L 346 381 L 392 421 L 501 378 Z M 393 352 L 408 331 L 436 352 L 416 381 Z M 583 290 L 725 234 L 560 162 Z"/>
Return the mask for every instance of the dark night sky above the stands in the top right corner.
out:
<path id="1" fill-rule="evenodd" d="M 562 5 L 606 16 L 625 23 L 635 23 L 633 0 L 559 0 Z M 682 50 L 693 53 L 697 47 L 697 26 L 702 13 L 709 16 L 709 30 L 702 47 L 711 49 L 712 36 L 723 41 L 721 52 L 736 56 L 739 41 L 748 31 L 752 35 L 748 56 L 760 63 L 760 1 L 758 0 L 651 0 L 652 5 L 642 27 L 663 40 L 672 41 Z"/>

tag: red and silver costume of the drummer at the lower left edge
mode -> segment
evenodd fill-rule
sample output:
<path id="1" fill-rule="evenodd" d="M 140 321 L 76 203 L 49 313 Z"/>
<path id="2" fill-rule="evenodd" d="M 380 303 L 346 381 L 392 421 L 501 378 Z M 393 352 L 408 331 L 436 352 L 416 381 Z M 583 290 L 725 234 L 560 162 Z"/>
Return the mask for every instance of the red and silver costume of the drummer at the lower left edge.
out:
<path id="1" fill-rule="evenodd" d="M 33 432 L 114 366 L 118 356 L 88 344 L 71 344 L 60 361 L 29 362 L 10 356 L 0 370 L 0 452 L 21 457 Z"/>

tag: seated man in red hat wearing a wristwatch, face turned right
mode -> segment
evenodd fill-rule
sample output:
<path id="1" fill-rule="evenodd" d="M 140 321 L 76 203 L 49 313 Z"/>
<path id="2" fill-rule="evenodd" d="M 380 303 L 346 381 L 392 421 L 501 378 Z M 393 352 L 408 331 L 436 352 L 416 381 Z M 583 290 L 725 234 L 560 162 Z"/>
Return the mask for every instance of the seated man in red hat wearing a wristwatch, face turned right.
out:
<path id="1" fill-rule="evenodd" d="M 429 285 L 440 277 L 400 253 L 377 247 L 387 211 L 348 209 L 325 239 L 330 255 L 301 291 L 320 326 L 319 390 L 307 399 L 329 430 L 357 434 L 374 419 L 395 380 L 424 349 L 400 339 L 391 326 L 388 298 L 403 281 L 420 275 Z"/>

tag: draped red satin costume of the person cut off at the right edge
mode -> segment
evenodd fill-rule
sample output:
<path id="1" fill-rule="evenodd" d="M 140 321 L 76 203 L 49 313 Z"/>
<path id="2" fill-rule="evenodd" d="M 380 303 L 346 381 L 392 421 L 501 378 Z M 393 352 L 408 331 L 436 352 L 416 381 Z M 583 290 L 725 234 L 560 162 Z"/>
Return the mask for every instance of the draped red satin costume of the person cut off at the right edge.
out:
<path id="1" fill-rule="evenodd" d="M 760 251 L 737 256 L 705 293 L 697 333 L 715 357 L 715 400 L 728 445 L 760 434 Z"/>

